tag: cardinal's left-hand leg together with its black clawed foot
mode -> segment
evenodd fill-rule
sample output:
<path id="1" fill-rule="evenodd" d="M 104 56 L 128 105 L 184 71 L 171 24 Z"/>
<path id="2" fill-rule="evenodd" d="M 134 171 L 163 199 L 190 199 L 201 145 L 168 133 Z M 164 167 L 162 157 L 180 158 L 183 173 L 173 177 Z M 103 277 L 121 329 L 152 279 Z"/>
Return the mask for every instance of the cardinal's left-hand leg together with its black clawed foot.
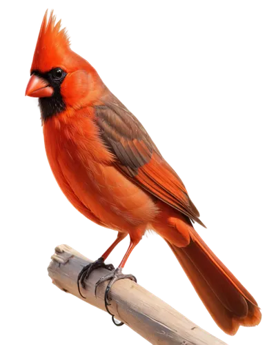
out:
<path id="1" fill-rule="evenodd" d="M 91 264 L 88 264 L 82 268 L 77 278 L 78 289 L 79 289 L 79 282 L 81 282 L 81 286 L 83 288 L 86 288 L 85 281 L 86 279 L 88 279 L 92 270 L 95 270 L 100 267 L 107 268 L 108 270 L 115 269 L 116 266 L 112 264 L 112 262 L 110 263 L 106 262 L 106 260 L 108 259 L 108 257 L 110 257 L 113 251 L 117 248 L 117 246 L 119 246 L 119 244 L 121 244 L 121 242 L 125 238 L 126 238 L 126 234 L 123 234 L 123 233 L 117 234 L 115 239 L 110 243 L 110 245 L 106 248 L 106 250 L 104 250 L 103 253 L 101 253 L 101 255 L 95 260 L 95 262 L 91 262 Z M 79 295 L 81 295 L 80 290 L 79 290 Z M 81 297 L 86 298 L 83 295 L 81 295 Z"/>

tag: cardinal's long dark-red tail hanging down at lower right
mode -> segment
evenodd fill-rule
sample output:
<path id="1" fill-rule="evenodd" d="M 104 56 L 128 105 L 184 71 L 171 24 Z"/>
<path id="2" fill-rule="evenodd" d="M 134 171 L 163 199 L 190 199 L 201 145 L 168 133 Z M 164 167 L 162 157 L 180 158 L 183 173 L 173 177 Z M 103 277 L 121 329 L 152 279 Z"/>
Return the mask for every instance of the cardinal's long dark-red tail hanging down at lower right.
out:
<path id="1" fill-rule="evenodd" d="M 228 336 L 237 335 L 241 327 L 259 326 L 262 308 L 253 294 L 197 231 L 191 228 L 189 232 L 190 244 L 186 247 L 165 241 L 216 326 Z"/>

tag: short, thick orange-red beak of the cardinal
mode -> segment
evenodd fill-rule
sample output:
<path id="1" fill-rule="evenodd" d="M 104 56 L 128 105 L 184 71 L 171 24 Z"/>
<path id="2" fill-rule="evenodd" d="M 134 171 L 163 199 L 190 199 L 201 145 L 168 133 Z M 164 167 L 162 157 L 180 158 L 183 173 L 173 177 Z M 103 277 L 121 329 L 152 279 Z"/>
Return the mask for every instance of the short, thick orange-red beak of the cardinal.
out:
<path id="1" fill-rule="evenodd" d="M 51 97 L 54 89 L 49 85 L 48 81 L 37 75 L 31 75 L 25 88 L 25 97 L 41 98 Z"/>

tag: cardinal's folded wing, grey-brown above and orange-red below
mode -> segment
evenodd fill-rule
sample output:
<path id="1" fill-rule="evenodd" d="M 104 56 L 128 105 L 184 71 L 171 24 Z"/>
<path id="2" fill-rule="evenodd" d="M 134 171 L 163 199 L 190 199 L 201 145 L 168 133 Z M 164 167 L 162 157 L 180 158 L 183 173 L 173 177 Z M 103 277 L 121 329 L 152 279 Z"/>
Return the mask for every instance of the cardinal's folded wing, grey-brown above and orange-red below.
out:
<path id="1" fill-rule="evenodd" d="M 152 195 L 206 226 L 181 177 L 161 154 L 141 121 L 117 97 L 95 106 L 101 138 L 117 157 L 115 165 Z"/>

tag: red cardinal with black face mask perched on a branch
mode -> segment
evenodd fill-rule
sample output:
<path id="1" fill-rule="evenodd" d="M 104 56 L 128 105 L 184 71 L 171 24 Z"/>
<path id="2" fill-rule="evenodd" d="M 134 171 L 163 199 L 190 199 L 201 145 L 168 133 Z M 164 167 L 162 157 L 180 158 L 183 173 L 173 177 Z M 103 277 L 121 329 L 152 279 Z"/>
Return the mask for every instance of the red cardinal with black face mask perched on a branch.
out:
<path id="1" fill-rule="evenodd" d="M 181 177 L 141 121 L 71 43 L 55 11 L 43 12 L 25 96 L 39 109 L 46 159 L 61 193 L 83 217 L 117 233 L 100 257 L 81 270 L 76 284 L 85 288 L 92 270 L 108 267 L 108 258 L 128 237 L 121 262 L 98 282 L 109 281 L 108 311 L 112 284 L 136 280 L 123 269 L 150 229 L 166 242 L 222 332 L 234 336 L 241 327 L 259 326 L 262 308 L 197 231 L 196 225 L 206 224 Z"/>

